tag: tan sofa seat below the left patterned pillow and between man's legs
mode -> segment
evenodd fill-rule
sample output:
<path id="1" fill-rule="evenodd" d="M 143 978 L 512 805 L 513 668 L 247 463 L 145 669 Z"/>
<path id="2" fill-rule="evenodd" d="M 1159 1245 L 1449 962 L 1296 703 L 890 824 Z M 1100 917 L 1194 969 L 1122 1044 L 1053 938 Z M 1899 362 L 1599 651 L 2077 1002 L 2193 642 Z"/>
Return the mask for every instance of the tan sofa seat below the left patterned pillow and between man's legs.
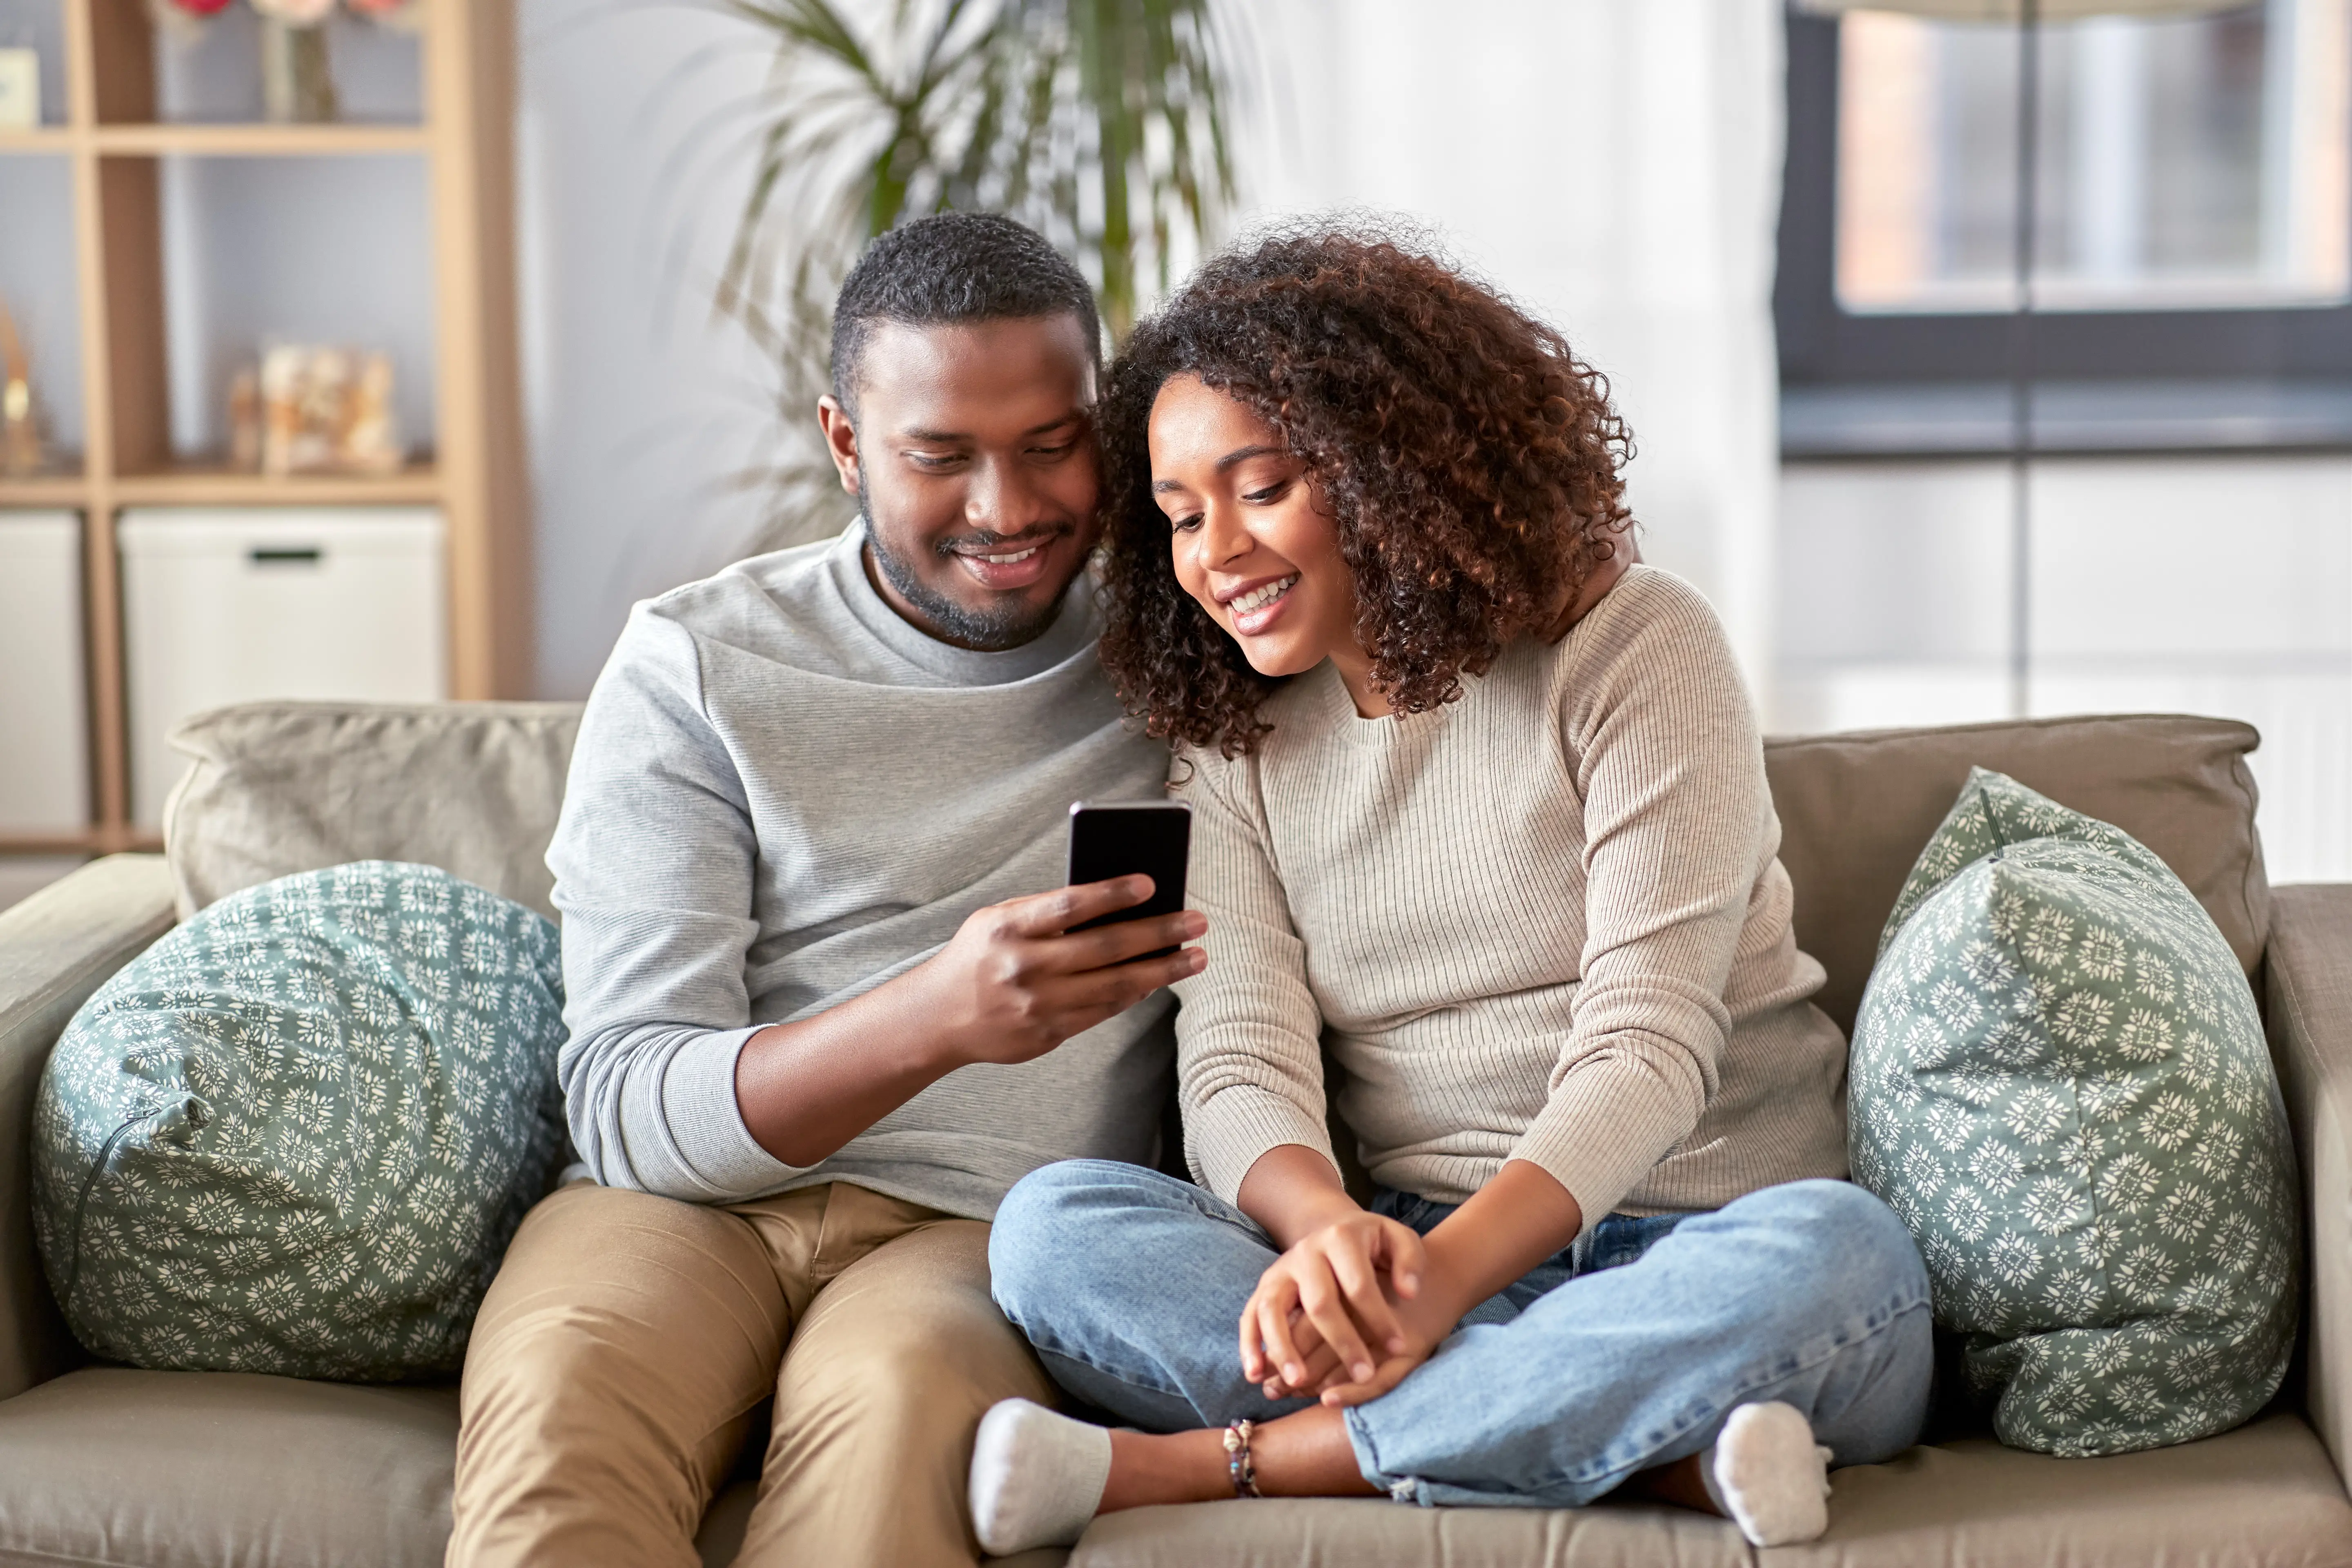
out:
<path id="1" fill-rule="evenodd" d="M 0 1401 L 0 1568 L 440 1568 L 454 1472 L 449 1385 L 89 1366 Z M 708 1568 L 753 1493 L 710 1505 Z"/>

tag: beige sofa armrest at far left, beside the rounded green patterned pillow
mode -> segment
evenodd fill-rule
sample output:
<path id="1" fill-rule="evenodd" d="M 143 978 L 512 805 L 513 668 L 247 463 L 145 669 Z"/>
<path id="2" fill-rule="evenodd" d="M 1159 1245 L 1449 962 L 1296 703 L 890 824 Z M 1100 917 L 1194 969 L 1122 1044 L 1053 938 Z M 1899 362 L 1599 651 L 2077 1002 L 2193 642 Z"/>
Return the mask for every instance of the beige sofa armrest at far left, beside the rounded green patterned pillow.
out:
<path id="1" fill-rule="evenodd" d="M 49 1046 L 172 929 L 162 856 L 108 856 L 0 910 L 0 1399 L 80 1361 L 33 1248 L 33 1100 Z"/>

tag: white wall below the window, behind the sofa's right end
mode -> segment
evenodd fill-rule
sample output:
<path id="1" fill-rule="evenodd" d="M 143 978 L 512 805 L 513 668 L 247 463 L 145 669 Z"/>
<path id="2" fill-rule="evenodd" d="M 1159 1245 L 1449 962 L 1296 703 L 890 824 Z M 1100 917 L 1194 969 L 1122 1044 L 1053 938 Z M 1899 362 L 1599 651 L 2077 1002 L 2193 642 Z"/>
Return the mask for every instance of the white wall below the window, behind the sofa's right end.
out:
<path id="1" fill-rule="evenodd" d="M 1792 463 L 1780 729 L 2009 712 L 2009 465 Z M 2352 879 L 2352 456 L 2044 458 L 2030 712 L 2263 731 L 2272 882 Z"/>

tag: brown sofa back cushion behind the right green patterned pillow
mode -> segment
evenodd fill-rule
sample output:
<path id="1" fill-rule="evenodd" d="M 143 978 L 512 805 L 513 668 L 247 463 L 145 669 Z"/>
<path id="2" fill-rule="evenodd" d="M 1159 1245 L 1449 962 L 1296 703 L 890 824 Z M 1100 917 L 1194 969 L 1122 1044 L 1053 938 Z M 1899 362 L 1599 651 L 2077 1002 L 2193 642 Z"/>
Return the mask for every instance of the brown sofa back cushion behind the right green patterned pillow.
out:
<path id="1" fill-rule="evenodd" d="M 1830 971 L 1816 1001 L 1853 1030 L 1879 926 L 1971 766 L 2009 773 L 2147 844 L 2251 976 L 2270 940 L 2270 879 L 2246 771 L 2258 743 L 2251 724 L 2178 715 L 1766 741 L 1780 863 L 1797 886 L 1797 945 Z"/>

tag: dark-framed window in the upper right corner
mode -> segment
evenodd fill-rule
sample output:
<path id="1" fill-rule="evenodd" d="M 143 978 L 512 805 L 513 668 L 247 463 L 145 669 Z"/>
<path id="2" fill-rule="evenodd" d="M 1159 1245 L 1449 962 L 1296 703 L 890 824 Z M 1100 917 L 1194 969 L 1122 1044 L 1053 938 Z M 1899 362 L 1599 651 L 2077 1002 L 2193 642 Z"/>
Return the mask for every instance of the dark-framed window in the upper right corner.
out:
<path id="1" fill-rule="evenodd" d="M 2037 447 L 2352 447 L 2347 12 L 2042 28 Z M 1790 12 L 1792 454 L 2006 451 L 2018 343 L 1990 315 L 2016 308 L 2018 54 L 2009 24 Z"/>

